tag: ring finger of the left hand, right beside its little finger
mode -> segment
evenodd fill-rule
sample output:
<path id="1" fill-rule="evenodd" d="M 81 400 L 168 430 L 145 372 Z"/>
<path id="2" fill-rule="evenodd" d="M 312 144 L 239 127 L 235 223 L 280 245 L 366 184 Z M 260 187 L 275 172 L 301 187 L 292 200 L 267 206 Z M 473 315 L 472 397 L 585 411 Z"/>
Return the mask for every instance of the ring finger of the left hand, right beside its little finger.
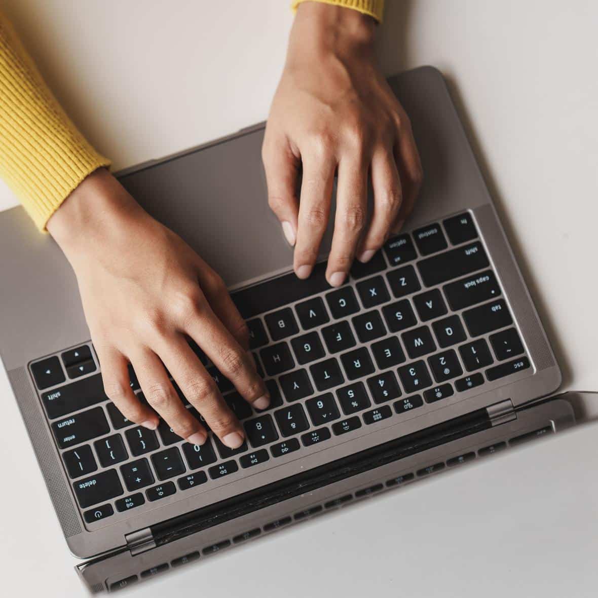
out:
<path id="1" fill-rule="evenodd" d="M 150 349 L 140 349 L 130 359 L 145 398 L 172 431 L 191 444 L 205 443 L 208 438 L 206 429 L 182 404 L 160 358 Z"/>

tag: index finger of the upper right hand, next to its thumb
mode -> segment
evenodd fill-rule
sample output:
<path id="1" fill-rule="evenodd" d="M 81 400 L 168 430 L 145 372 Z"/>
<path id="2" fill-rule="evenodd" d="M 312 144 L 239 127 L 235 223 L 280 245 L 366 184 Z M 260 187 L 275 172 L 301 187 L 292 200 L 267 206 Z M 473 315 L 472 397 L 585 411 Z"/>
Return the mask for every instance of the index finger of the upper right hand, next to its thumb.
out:
<path id="1" fill-rule="evenodd" d="M 307 278 L 318 259 L 322 237 L 328 225 L 335 161 L 324 152 L 307 154 L 303 159 L 299 225 L 295 244 L 294 269 Z"/>

